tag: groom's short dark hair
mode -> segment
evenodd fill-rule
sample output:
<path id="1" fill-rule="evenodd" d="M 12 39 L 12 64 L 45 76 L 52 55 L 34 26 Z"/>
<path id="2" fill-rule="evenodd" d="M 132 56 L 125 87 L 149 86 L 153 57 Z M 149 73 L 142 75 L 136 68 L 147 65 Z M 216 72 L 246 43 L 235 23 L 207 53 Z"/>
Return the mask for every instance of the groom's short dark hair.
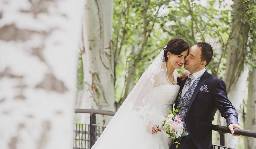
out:
<path id="1" fill-rule="evenodd" d="M 196 43 L 196 45 L 201 49 L 201 61 L 206 61 L 205 66 L 207 66 L 212 60 L 212 55 L 213 55 L 211 44 L 200 42 L 200 43 Z"/>

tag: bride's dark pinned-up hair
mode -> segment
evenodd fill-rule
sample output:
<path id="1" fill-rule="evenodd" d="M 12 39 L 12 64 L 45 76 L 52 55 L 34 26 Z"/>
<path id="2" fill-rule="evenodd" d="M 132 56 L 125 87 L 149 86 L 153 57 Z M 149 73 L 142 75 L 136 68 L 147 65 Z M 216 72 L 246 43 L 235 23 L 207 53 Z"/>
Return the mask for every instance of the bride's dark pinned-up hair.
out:
<path id="1" fill-rule="evenodd" d="M 173 38 L 168 42 L 167 47 L 163 48 L 163 50 L 164 50 L 165 61 L 167 61 L 168 60 L 167 52 L 170 52 L 175 55 L 179 55 L 183 51 L 189 50 L 189 46 L 188 46 L 188 43 L 183 39 Z"/>

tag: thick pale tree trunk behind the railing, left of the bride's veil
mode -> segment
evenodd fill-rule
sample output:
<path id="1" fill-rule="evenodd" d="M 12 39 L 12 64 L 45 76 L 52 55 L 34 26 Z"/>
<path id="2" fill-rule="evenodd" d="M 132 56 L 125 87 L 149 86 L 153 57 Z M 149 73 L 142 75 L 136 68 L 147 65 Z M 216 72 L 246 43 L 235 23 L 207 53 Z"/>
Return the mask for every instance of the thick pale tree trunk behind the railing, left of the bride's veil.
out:
<path id="1" fill-rule="evenodd" d="M 86 108 L 115 111 L 114 58 L 112 52 L 112 0 L 86 0 L 82 58 L 86 90 Z M 106 125 L 111 116 L 97 116 Z M 89 119 L 88 119 L 89 120 Z"/>

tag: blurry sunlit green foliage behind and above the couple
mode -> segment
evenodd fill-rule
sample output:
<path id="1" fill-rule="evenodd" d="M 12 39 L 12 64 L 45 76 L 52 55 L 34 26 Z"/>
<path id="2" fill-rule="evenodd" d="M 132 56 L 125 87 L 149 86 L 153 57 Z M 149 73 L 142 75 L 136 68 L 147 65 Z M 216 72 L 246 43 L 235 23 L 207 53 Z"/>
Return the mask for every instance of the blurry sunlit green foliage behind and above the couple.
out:
<path id="1" fill-rule="evenodd" d="M 250 9 L 247 13 L 253 16 L 255 15 L 255 3 L 254 1 L 249 2 Z M 116 0 L 114 3 L 113 41 L 114 50 L 116 53 L 120 53 L 120 57 L 117 60 L 115 74 L 115 100 L 118 101 L 124 93 L 129 62 L 136 60 L 136 69 L 131 80 L 134 85 L 145 68 L 172 38 L 183 38 L 190 47 L 197 42 L 211 41 L 214 46 L 214 56 L 206 69 L 214 76 L 223 79 L 229 48 L 228 42 L 232 34 L 231 14 L 231 4 L 227 4 L 225 0 L 210 0 L 205 5 L 202 5 L 199 0 Z M 144 28 L 145 23 L 147 23 L 146 28 Z M 251 20 L 249 35 L 251 40 L 248 41 L 248 50 L 244 53 L 245 64 L 250 66 L 255 66 L 255 24 Z M 148 36 L 148 39 L 143 46 L 145 35 Z M 135 50 L 134 47 L 136 47 Z M 141 52 L 139 52 L 140 50 Z M 181 74 L 184 68 L 177 71 Z"/>

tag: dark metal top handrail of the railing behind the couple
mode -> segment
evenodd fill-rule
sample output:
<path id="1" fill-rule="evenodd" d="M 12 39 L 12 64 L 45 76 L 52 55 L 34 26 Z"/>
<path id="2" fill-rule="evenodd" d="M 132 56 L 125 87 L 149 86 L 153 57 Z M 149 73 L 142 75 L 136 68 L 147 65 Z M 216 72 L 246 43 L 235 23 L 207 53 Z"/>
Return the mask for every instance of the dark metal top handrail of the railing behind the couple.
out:
<path id="1" fill-rule="evenodd" d="M 101 115 L 114 116 L 116 112 L 114 112 L 114 111 L 96 110 L 96 109 L 75 109 L 75 113 L 90 113 L 90 114 L 101 114 Z M 228 127 L 225 127 L 225 126 L 212 125 L 212 130 L 218 131 L 218 132 L 222 132 L 222 133 L 229 133 L 229 134 L 231 134 L 230 129 Z M 251 130 L 234 128 L 234 134 L 236 134 L 236 135 L 243 135 L 243 136 L 246 136 L 246 137 L 256 138 L 256 131 L 251 131 Z"/>

